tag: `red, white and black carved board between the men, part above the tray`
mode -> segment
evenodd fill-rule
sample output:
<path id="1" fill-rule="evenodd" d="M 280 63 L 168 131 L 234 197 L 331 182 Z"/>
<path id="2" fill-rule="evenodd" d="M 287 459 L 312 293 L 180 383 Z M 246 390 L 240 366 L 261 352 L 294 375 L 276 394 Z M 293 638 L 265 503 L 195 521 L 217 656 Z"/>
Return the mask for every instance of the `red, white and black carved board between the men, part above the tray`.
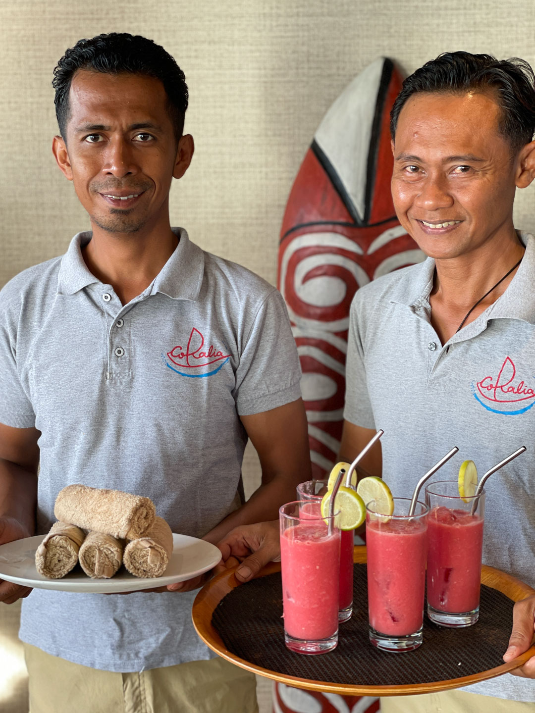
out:
<path id="1" fill-rule="evenodd" d="M 352 298 L 357 289 L 370 280 L 423 258 L 412 238 L 399 225 L 390 195 L 393 159 L 389 111 L 402 78 L 389 60 L 378 62 L 384 62 L 379 66 L 382 73 L 370 73 L 370 68 L 377 63 L 367 68 L 362 73 L 362 77 L 367 73 L 367 82 L 359 83 L 357 78 L 342 94 L 350 96 L 353 92 L 355 96 L 346 98 L 340 108 L 340 112 L 346 114 L 342 123 L 347 129 L 348 106 L 356 107 L 358 117 L 357 105 L 371 103 L 374 106 L 377 101 L 372 116 L 374 131 L 362 128 L 364 132 L 367 130 L 366 136 L 371 137 L 361 158 L 370 163 L 373 155 L 372 178 L 369 171 L 367 185 L 355 189 L 353 182 L 352 190 L 346 192 L 342 178 L 337 175 L 337 165 L 324 150 L 325 145 L 332 148 L 332 135 L 325 139 L 325 130 L 320 126 L 316 139 L 321 137 L 324 146 L 318 148 L 315 140 L 307 151 L 282 222 L 278 284 L 300 355 L 315 478 L 325 477 L 330 471 L 340 446 Z M 391 69 L 385 81 L 387 63 Z M 382 96 L 380 102 L 379 96 Z M 331 134 L 336 129 L 336 120 L 331 109 L 328 123 Z M 343 142 L 344 136 L 337 136 L 336 140 Z M 335 146 L 332 153 L 337 154 L 338 148 Z M 355 165 L 358 162 L 359 157 L 355 156 Z M 342 169 L 347 178 L 347 165 Z M 355 197 L 359 190 L 362 195 Z"/>

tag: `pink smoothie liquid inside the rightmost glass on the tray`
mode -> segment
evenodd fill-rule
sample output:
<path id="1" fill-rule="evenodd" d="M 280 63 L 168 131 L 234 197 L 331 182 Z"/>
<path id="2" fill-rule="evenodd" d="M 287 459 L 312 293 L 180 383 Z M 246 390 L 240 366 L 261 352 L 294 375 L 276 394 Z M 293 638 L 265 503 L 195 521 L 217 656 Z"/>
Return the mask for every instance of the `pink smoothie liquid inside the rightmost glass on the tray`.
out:
<path id="1" fill-rule="evenodd" d="M 429 513 L 427 602 L 443 612 L 479 607 L 483 518 L 444 506 Z"/>

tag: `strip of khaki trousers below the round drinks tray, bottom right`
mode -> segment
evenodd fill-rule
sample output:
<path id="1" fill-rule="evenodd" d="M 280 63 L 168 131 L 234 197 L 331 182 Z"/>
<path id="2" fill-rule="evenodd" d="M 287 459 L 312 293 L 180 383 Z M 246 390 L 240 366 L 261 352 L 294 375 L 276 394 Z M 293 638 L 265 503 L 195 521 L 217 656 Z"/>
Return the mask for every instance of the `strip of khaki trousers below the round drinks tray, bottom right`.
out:
<path id="1" fill-rule="evenodd" d="M 535 682 L 534 682 L 535 686 Z M 381 699 L 381 713 L 534 713 L 535 703 L 509 701 L 465 691 L 392 696 Z"/>

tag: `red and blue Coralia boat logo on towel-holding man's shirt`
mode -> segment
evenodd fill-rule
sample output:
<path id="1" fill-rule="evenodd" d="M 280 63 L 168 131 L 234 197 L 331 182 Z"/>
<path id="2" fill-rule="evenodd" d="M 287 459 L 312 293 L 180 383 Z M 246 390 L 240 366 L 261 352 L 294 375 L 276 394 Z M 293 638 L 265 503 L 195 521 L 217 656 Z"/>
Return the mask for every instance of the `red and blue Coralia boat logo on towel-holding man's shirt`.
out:
<path id="1" fill-rule="evenodd" d="M 190 332 L 186 347 L 178 344 L 165 356 L 162 354 L 165 366 L 176 374 L 188 376 L 190 379 L 213 376 L 230 359 L 230 354 L 225 354 L 219 347 L 214 347 L 213 344 L 206 347 L 202 332 L 195 327 Z"/>

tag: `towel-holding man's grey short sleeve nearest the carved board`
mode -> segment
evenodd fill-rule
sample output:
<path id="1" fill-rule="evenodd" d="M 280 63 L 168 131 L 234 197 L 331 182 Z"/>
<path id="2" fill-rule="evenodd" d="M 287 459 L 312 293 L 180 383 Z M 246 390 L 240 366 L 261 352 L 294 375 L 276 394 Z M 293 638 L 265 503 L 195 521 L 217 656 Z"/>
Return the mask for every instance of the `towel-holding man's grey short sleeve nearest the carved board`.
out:
<path id="1" fill-rule="evenodd" d="M 300 399 L 301 369 L 290 319 L 274 289 L 258 309 L 240 354 L 234 398 L 240 416 Z"/>

